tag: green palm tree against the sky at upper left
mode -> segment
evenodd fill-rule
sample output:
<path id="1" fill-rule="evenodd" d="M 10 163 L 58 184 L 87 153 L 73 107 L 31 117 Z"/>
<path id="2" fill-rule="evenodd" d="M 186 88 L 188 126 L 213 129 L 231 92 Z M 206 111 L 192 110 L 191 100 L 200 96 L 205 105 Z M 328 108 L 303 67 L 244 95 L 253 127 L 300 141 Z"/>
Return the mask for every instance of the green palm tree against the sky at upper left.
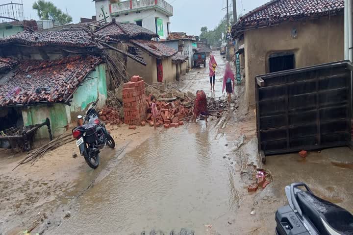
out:
<path id="1" fill-rule="evenodd" d="M 73 20 L 70 15 L 63 13 L 50 1 L 37 0 L 33 3 L 32 8 L 37 10 L 41 20 L 54 20 L 59 24 L 69 24 Z"/>

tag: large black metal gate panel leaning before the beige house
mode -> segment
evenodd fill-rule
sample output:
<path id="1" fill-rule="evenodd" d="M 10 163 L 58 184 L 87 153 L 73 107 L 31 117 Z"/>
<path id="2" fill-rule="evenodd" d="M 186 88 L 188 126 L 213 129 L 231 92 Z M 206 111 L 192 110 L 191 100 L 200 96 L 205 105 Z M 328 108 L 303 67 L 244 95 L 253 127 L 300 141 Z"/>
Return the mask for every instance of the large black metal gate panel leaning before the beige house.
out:
<path id="1" fill-rule="evenodd" d="M 263 162 L 265 155 L 352 146 L 351 71 L 349 61 L 338 61 L 255 77 Z"/>

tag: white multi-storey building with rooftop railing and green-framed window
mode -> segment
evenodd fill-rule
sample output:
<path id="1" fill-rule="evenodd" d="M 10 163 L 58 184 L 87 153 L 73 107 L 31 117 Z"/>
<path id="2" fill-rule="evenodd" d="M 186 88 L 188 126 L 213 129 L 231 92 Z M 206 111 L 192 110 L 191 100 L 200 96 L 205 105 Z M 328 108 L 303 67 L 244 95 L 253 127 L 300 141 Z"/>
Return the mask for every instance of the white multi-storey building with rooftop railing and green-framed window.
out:
<path id="1" fill-rule="evenodd" d="M 135 23 L 166 39 L 170 32 L 173 6 L 165 0 L 95 0 L 97 21 Z"/>

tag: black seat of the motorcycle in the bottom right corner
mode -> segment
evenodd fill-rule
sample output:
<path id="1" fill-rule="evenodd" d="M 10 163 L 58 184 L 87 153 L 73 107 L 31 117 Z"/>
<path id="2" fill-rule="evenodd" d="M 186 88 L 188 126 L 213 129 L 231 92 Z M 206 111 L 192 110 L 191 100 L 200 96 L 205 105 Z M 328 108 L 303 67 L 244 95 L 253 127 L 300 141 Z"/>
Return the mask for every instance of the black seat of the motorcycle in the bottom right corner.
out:
<path id="1" fill-rule="evenodd" d="M 321 235 L 353 235 L 353 215 L 309 191 L 296 193 L 298 204 Z"/>

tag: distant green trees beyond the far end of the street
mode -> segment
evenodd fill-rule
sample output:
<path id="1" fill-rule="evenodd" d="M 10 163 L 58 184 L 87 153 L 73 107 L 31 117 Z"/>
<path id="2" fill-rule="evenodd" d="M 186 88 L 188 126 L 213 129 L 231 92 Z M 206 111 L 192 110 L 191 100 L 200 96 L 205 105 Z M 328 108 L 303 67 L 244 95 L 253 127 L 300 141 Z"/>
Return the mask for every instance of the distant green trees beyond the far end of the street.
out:
<path id="1" fill-rule="evenodd" d="M 229 27 L 233 24 L 233 13 L 229 12 Z M 201 28 L 200 38 L 206 38 L 209 45 L 220 46 L 222 33 L 226 37 L 227 32 L 227 15 L 225 15 L 217 27 L 213 30 L 208 30 L 206 26 Z M 223 38 L 225 39 L 225 38 Z"/>

